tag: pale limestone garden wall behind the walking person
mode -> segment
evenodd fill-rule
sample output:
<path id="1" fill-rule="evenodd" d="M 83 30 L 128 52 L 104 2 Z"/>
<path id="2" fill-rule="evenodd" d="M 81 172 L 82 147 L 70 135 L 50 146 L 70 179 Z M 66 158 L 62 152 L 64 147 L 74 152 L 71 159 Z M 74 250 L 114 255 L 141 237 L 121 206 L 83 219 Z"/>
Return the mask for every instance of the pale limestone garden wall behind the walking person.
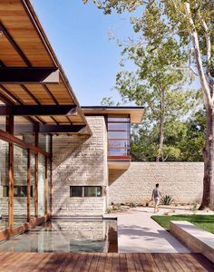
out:
<path id="1" fill-rule="evenodd" d="M 160 183 L 163 195 L 175 202 L 200 202 L 203 185 L 202 162 L 131 162 L 128 170 L 109 173 L 109 202 L 143 203 Z"/>

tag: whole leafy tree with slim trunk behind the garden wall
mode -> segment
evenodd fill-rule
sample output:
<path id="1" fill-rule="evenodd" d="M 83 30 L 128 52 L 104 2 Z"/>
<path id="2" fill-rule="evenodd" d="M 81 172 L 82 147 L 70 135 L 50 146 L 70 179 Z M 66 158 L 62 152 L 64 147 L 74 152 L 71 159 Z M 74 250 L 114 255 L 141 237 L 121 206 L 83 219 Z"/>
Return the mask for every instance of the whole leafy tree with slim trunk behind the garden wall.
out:
<path id="1" fill-rule="evenodd" d="M 146 108 L 151 124 L 159 124 L 159 147 L 156 160 L 163 161 L 165 123 L 181 118 L 190 108 L 194 92 L 182 88 L 187 80 L 184 65 L 187 54 L 168 33 L 169 26 L 161 20 L 162 13 L 155 3 L 148 6 L 140 18 L 132 18 L 139 39 L 124 47 L 137 70 L 117 74 L 117 89 L 124 100 Z M 159 29 L 159 34 L 157 34 Z M 169 151 L 165 149 L 165 153 Z"/>

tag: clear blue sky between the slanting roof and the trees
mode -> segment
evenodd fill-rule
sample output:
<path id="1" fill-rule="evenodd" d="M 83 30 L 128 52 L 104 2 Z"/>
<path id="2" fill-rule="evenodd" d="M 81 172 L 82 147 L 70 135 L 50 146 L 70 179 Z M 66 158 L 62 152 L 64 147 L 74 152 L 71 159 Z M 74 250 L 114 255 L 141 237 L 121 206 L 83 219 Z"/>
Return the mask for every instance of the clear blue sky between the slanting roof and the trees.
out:
<path id="1" fill-rule="evenodd" d="M 108 33 L 112 29 L 120 38 L 131 34 L 129 15 L 103 15 L 82 0 L 32 4 L 81 105 L 100 105 L 103 96 L 120 100 L 112 87 L 121 49 Z"/>

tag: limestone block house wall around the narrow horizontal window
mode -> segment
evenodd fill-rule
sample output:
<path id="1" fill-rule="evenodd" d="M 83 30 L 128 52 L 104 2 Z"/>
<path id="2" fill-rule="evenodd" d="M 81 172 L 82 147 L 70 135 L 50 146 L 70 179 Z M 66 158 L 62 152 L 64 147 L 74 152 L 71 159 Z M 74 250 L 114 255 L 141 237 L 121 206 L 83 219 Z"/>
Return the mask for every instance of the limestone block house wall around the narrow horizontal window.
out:
<path id="1" fill-rule="evenodd" d="M 102 116 L 87 117 L 90 138 L 53 137 L 53 217 L 102 216 L 106 198 L 70 198 L 70 186 L 108 185 L 107 131 Z"/>

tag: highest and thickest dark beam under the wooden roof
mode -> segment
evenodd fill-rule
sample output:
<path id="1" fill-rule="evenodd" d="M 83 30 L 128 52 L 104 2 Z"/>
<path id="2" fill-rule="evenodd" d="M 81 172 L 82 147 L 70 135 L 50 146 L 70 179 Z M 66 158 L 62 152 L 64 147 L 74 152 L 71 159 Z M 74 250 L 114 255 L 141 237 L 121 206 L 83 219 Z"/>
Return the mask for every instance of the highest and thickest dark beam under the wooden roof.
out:
<path id="1" fill-rule="evenodd" d="M 0 67 L 0 83 L 59 83 L 56 67 Z"/>

